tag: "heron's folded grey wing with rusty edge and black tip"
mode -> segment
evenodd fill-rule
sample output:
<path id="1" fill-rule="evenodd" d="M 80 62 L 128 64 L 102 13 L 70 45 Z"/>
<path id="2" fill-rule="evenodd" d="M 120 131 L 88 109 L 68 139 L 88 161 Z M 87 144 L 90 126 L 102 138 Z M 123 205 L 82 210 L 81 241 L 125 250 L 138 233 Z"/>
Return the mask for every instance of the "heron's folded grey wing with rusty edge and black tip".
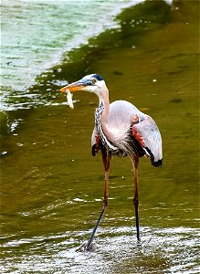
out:
<path id="1" fill-rule="evenodd" d="M 151 157 L 154 166 L 161 166 L 163 160 L 162 138 L 153 119 L 145 115 L 141 121 L 132 124 L 132 135 Z"/>

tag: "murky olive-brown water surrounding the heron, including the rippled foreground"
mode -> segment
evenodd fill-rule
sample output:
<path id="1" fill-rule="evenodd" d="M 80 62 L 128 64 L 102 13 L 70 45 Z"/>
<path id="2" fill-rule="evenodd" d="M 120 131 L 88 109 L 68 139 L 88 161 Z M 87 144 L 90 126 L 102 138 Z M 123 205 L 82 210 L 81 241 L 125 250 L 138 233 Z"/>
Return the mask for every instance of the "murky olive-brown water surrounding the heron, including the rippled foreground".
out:
<path id="1" fill-rule="evenodd" d="M 71 53 L 73 63 L 38 79 L 30 91 L 55 104 L 4 114 L 2 273 L 199 273 L 199 5 L 158 3 L 127 10 L 123 32 L 90 41 L 99 47 L 82 47 Z M 81 253 L 76 249 L 89 237 L 103 195 L 100 155 L 90 155 L 98 100 L 77 93 L 72 111 L 60 105 L 66 99 L 53 79 L 90 72 L 106 79 L 111 100 L 130 100 L 153 116 L 163 168 L 141 159 L 138 245 L 132 164 L 113 159 L 110 206 L 94 250 Z"/>

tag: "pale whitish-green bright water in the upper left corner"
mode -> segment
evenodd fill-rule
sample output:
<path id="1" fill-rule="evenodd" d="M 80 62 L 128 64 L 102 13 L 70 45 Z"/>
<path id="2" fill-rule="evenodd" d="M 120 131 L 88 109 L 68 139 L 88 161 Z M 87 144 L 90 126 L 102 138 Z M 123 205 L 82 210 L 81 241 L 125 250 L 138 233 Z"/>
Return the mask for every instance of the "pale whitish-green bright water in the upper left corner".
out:
<path id="1" fill-rule="evenodd" d="M 125 0 L 116 5 L 115 1 L 4 0 L 2 110 L 23 108 L 23 96 L 34 101 L 36 98 L 27 94 L 27 88 L 39 74 L 58 64 L 64 52 L 86 44 L 89 37 L 106 28 L 117 26 L 113 16 L 122 7 L 139 2 Z"/>

